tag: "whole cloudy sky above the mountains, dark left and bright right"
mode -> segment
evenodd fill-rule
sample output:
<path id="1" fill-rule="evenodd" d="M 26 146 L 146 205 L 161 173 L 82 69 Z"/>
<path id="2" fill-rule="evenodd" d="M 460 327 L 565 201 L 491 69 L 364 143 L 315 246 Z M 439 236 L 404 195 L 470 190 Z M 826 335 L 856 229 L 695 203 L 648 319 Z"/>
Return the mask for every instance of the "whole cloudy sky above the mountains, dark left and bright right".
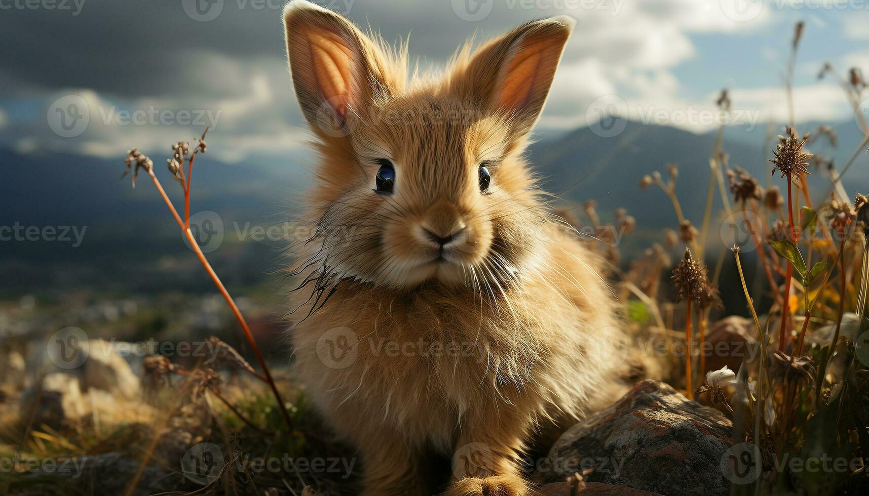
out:
<path id="1" fill-rule="evenodd" d="M 0 147 L 122 155 L 163 150 L 210 123 L 226 162 L 298 153 L 308 131 L 290 82 L 281 0 L 0 0 Z M 468 37 L 577 19 L 538 129 L 621 116 L 696 133 L 787 118 L 793 25 L 798 122 L 854 121 L 825 62 L 869 76 L 869 0 L 317 0 L 442 68 Z M 869 102 L 862 111 L 869 112 Z M 867 114 L 869 115 L 869 114 Z M 156 151 L 154 152 L 155 155 Z"/>

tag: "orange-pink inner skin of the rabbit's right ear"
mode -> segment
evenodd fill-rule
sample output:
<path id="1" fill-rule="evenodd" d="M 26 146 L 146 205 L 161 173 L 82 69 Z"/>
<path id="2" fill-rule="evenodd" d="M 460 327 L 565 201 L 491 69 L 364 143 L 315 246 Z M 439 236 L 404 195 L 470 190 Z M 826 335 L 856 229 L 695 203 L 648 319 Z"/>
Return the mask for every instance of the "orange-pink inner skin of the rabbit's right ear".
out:
<path id="1" fill-rule="evenodd" d="M 548 76 L 554 68 L 547 67 L 547 50 L 552 48 L 551 41 L 526 40 L 504 69 L 504 81 L 498 91 L 498 105 L 506 109 L 521 109 L 533 100 L 538 82 Z M 551 60 L 548 61 L 551 63 Z"/>

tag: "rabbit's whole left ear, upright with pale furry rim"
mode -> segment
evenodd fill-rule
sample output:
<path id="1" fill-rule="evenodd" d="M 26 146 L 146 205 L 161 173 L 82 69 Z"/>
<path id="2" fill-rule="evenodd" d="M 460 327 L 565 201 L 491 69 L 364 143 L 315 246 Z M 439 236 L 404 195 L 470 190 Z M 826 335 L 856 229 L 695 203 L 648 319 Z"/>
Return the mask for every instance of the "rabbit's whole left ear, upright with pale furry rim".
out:
<path id="1" fill-rule="evenodd" d="M 383 56 L 368 36 L 331 10 L 293 0 L 283 10 L 289 68 L 302 113 L 315 129 L 344 126 L 388 94 Z"/>

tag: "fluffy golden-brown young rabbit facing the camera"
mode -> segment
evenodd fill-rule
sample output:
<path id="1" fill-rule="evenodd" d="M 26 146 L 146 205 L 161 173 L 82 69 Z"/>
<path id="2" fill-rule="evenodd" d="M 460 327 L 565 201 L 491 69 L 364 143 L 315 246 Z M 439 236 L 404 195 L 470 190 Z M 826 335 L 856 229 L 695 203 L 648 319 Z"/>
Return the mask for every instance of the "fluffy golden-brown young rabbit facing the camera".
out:
<path id="1" fill-rule="evenodd" d="M 523 158 L 574 20 L 467 44 L 442 76 L 314 3 L 283 22 L 318 156 L 292 248 L 298 380 L 366 496 L 533 493 L 535 433 L 628 387 L 604 261 Z"/>

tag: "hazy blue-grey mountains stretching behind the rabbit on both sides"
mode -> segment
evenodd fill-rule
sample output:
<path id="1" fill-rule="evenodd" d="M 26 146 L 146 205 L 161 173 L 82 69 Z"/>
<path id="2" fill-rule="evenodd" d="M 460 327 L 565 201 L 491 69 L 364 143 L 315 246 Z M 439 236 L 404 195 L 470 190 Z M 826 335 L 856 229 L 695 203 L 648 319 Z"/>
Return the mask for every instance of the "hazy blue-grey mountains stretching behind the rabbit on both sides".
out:
<path id="1" fill-rule="evenodd" d="M 749 139 L 728 132 L 725 149 L 732 164 L 749 169 L 764 183 L 767 166 L 761 155 L 763 131 L 760 133 L 759 143 L 758 136 Z M 646 234 L 645 239 L 638 233 L 627 242 L 646 246 L 650 239 L 660 239 L 657 231 L 661 228 L 675 225 L 675 215 L 660 189 L 640 190 L 640 178 L 653 170 L 666 175 L 666 164 L 678 163 L 682 207 L 699 222 L 713 144 L 713 134 L 694 135 L 627 122 L 618 136 L 605 138 L 590 129 L 575 129 L 535 143 L 529 153 L 547 191 L 561 193 L 567 202 L 597 200 L 605 219 L 614 208 L 627 208 L 636 217 L 638 230 Z M 842 152 L 847 155 L 855 146 L 843 138 L 839 148 L 848 150 Z M 154 153 L 155 167 L 165 178 L 163 185 L 180 208 L 180 188 L 169 180 L 163 157 L 149 153 Z M 869 153 L 866 155 L 846 178 L 851 194 L 869 191 Z M 265 227 L 292 218 L 293 213 L 287 210 L 300 200 L 297 193 L 309 178 L 302 162 L 293 156 L 264 156 L 233 165 L 211 160 L 209 155 L 196 160 L 193 209 L 212 210 L 222 218 L 225 239 L 209 257 L 230 286 L 248 287 L 274 279 L 266 274 L 275 268 L 269 258 L 288 242 L 251 241 L 237 229 Z M 149 179 L 140 176 L 135 190 L 130 188 L 129 177 L 118 179 L 123 157 L 20 155 L 0 149 L 0 164 L 0 226 L 17 222 L 39 228 L 87 228 L 79 247 L 60 241 L 0 241 L 0 298 L 70 288 L 113 294 L 168 288 L 210 290 L 207 277 L 182 245 L 181 235 Z M 779 179 L 774 181 L 782 184 Z M 813 175 L 812 181 L 817 185 L 827 182 L 820 174 Z M 717 193 L 715 201 L 720 208 Z"/>

